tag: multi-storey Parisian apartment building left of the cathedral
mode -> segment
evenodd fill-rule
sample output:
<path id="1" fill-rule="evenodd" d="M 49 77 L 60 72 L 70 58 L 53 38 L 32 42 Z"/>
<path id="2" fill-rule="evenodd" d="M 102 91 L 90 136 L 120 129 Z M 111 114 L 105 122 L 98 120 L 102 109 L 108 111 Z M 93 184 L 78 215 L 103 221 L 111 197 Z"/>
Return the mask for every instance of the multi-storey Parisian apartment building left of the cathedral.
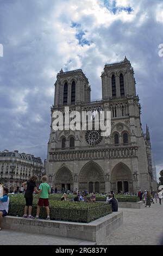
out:
<path id="1" fill-rule="evenodd" d="M 37 175 L 40 184 L 41 176 L 45 174 L 44 164 L 40 157 L 19 153 L 18 150 L 0 151 L 0 183 L 7 187 L 21 187 L 22 182 L 30 176 Z"/>

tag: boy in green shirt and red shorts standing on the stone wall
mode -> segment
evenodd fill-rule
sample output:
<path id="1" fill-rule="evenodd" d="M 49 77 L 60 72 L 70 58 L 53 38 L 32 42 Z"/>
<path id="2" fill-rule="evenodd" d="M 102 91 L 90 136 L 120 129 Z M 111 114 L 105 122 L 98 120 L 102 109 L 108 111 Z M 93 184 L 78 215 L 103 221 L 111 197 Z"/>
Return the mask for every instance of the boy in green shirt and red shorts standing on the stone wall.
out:
<path id="1" fill-rule="evenodd" d="M 36 220 L 39 220 L 40 208 L 45 206 L 47 212 L 46 220 L 50 220 L 49 216 L 49 200 L 48 194 L 51 193 L 51 187 L 47 184 L 47 176 L 42 176 L 41 178 L 42 183 L 39 186 L 39 202 L 37 204 L 37 215 Z"/>

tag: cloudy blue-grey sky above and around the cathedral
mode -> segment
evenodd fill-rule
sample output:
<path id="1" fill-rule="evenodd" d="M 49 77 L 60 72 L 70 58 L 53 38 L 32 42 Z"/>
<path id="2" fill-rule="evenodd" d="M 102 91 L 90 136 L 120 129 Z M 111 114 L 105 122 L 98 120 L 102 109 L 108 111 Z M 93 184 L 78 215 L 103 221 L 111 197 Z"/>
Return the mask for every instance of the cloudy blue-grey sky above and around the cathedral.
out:
<path id="1" fill-rule="evenodd" d="M 163 168 L 162 0 L 0 0 L 0 151 L 47 156 L 54 82 L 83 69 L 101 97 L 105 63 L 126 55 L 134 67 L 142 124 L 156 169 Z"/>

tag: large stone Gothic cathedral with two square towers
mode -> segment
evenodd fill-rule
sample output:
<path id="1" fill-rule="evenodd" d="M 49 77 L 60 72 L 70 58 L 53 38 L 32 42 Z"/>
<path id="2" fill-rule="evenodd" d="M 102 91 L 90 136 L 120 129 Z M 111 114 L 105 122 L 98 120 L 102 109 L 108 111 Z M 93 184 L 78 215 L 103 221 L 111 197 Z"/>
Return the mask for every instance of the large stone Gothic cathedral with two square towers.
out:
<path id="1" fill-rule="evenodd" d="M 111 111 L 111 134 L 54 131 L 51 123 L 48 182 L 58 191 L 156 191 L 149 130 L 142 131 L 141 106 L 129 60 L 125 57 L 122 62 L 106 64 L 101 78 L 102 100 L 91 101 L 91 87 L 81 69 L 58 73 L 51 114 L 64 114 L 65 106 L 79 112 Z"/>

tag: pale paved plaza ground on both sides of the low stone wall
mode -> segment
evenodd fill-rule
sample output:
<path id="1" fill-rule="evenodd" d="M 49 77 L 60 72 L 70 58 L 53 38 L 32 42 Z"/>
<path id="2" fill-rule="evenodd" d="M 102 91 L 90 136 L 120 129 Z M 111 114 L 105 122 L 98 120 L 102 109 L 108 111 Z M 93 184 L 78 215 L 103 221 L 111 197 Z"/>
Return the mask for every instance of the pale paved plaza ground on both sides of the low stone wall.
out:
<path id="1" fill-rule="evenodd" d="M 158 245 L 163 236 L 163 205 L 151 208 L 120 209 L 123 224 L 113 231 L 101 245 Z M 93 242 L 64 237 L 0 231 L 1 245 L 95 245 Z"/>

